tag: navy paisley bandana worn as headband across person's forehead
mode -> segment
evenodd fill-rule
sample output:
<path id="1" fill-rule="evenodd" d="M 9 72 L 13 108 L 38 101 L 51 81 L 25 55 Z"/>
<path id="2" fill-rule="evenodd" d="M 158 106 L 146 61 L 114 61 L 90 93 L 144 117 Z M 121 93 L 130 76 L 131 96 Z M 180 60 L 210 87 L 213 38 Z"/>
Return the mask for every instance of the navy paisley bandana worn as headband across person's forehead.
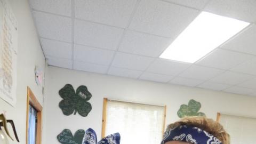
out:
<path id="1" fill-rule="evenodd" d="M 168 141 L 184 141 L 192 144 L 222 144 L 219 139 L 212 134 L 199 129 L 198 127 L 181 125 L 164 133 L 161 144 Z"/>

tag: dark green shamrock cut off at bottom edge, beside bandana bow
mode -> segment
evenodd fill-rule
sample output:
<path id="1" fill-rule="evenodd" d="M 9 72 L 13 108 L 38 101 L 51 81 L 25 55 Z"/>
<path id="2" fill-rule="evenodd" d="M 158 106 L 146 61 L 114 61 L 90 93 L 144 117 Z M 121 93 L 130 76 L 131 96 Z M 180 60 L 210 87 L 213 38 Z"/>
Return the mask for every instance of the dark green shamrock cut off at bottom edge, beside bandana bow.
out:
<path id="1" fill-rule="evenodd" d="M 65 129 L 57 135 L 57 139 L 62 144 L 81 144 L 83 142 L 84 134 L 84 130 L 77 130 L 73 137 L 71 131 Z"/>

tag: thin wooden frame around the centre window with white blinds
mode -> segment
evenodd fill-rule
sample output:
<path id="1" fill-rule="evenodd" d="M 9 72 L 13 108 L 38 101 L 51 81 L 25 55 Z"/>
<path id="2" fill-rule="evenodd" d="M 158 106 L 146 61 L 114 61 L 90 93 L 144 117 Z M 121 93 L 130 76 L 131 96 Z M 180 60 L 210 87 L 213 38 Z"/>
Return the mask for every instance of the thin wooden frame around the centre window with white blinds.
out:
<path id="1" fill-rule="evenodd" d="M 119 101 L 119 100 L 116 100 Z M 103 110 L 102 110 L 102 129 L 101 129 L 101 138 L 105 138 L 106 137 L 106 120 L 107 120 L 107 102 L 108 99 L 107 98 L 103 98 Z M 120 102 L 127 102 L 127 101 L 120 101 Z M 136 102 L 130 102 L 130 103 L 136 103 Z M 143 103 L 138 103 L 141 105 L 147 105 L 147 104 L 143 104 Z M 155 105 L 153 105 L 155 106 Z M 164 131 L 165 131 L 165 119 L 166 119 L 166 105 L 165 106 L 161 106 L 164 107 L 164 115 L 163 115 L 163 137 L 164 137 Z"/>

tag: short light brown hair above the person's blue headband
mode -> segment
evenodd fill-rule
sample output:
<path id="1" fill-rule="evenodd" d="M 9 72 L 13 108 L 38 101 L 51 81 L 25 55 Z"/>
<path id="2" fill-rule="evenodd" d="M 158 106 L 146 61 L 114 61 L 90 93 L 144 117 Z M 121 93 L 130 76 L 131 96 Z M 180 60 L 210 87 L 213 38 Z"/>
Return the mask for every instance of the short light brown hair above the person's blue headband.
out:
<path id="1" fill-rule="evenodd" d="M 222 144 L 230 144 L 230 136 L 229 134 L 223 129 L 223 126 L 214 121 L 213 119 L 206 118 L 206 117 L 185 117 L 180 119 L 175 123 L 168 125 L 167 130 L 174 129 L 180 125 L 190 125 L 198 127 L 210 134 L 214 135 L 214 137 L 218 138 Z"/>

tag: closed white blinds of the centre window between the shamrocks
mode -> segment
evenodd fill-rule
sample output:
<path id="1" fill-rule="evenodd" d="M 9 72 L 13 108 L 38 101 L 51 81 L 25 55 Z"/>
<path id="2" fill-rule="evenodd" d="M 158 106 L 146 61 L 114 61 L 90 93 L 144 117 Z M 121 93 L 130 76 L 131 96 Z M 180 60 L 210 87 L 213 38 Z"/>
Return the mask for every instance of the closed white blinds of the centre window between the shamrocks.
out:
<path id="1" fill-rule="evenodd" d="M 105 108 L 104 136 L 119 132 L 122 144 L 156 144 L 161 142 L 164 131 L 165 107 L 106 100 Z"/>

